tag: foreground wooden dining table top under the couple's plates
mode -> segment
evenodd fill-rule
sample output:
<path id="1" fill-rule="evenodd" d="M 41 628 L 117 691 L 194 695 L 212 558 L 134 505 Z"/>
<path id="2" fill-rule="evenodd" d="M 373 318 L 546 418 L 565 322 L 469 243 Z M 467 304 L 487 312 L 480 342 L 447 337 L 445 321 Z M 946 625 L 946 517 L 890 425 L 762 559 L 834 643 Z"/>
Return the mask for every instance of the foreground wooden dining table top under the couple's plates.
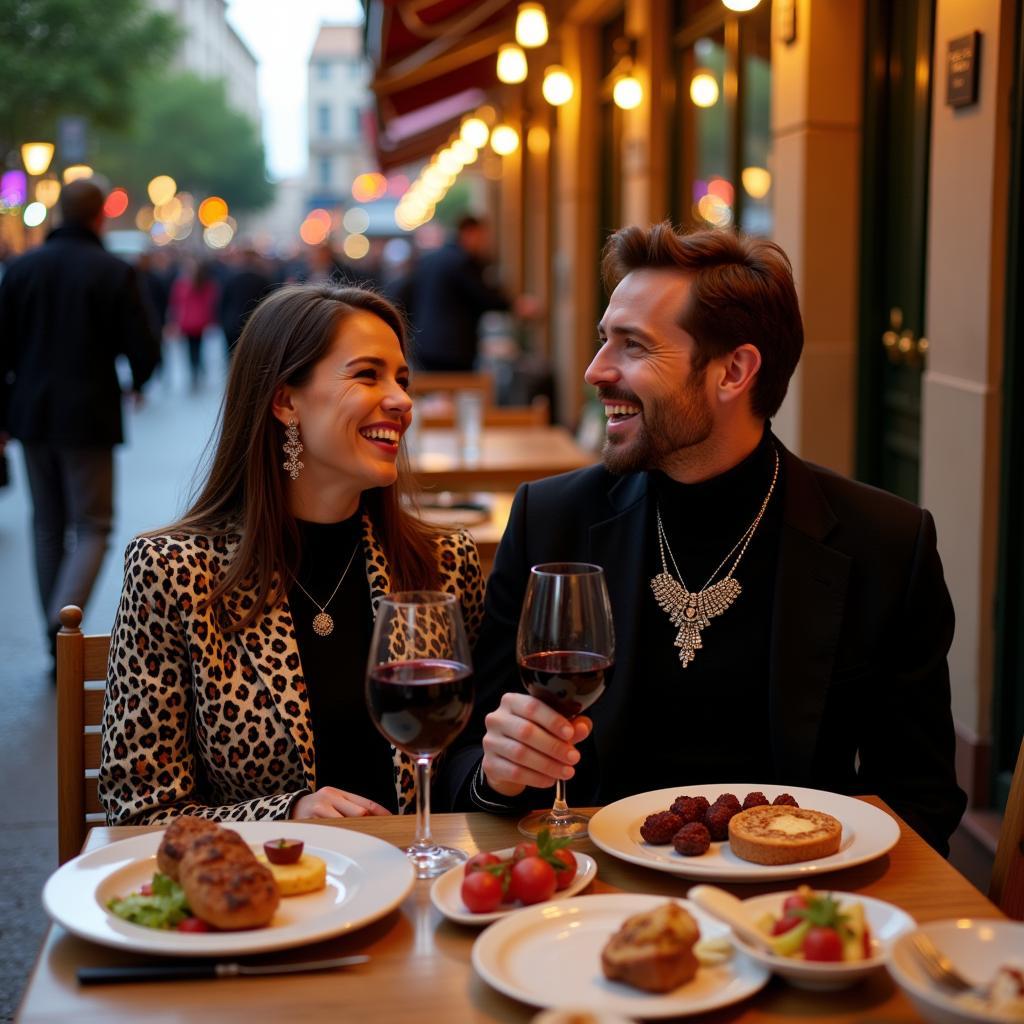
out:
<path id="1" fill-rule="evenodd" d="M 885 808 L 881 801 L 865 798 Z M 409 843 L 411 817 L 359 818 L 323 822 L 378 836 L 396 845 Z M 515 820 L 485 814 L 435 815 L 435 837 L 468 851 L 501 849 L 519 836 Z M 860 892 L 897 903 L 919 922 L 942 918 L 1000 918 L 999 910 L 900 822 L 901 837 L 885 857 L 842 871 L 817 876 L 818 888 Z M 86 849 L 125 839 L 140 828 L 94 828 Z M 657 893 L 684 896 L 693 884 L 677 876 L 624 863 L 592 844 L 581 849 L 596 857 L 598 876 L 588 892 Z M 786 883 L 725 886 L 740 896 L 785 888 Z M 68 935 L 53 926 L 32 973 L 18 1019 L 135 1024 L 138 1021 L 372 1021 L 373 1024 L 471 1024 L 524 1022 L 536 1013 L 481 981 L 470 966 L 470 947 L 478 934 L 441 916 L 429 899 L 429 882 L 416 883 L 401 906 L 388 916 L 342 938 L 254 961 L 321 959 L 367 952 L 364 967 L 323 974 L 196 982 L 147 982 L 79 988 L 77 968 L 87 965 L 145 963 Z M 701 1015 L 701 1021 L 778 1024 L 782 1020 L 853 1024 L 899 1024 L 919 1018 L 885 972 L 842 992 L 814 993 L 772 979 L 757 995 L 736 1006 Z"/>

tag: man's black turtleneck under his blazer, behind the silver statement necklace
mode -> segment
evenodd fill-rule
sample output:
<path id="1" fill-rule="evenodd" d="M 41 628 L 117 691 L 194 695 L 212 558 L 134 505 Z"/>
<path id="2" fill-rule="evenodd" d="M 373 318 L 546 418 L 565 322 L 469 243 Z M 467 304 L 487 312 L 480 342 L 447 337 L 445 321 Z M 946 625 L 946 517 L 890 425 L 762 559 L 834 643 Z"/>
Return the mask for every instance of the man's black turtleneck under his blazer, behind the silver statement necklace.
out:
<path id="1" fill-rule="evenodd" d="M 669 546 L 688 590 L 698 590 L 753 522 L 771 485 L 775 444 L 770 431 L 732 469 L 700 483 L 650 474 L 651 543 L 645 581 L 662 571 L 654 510 L 660 508 Z M 644 660 L 635 678 L 644 693 L 631 701 L 629 728 L 636 749 L 624 758 L 603 793 L 616 799 L 677 784 L 765 781 L 771 764 L 768 734 L 768 658 L 775 565 L 782 524 L 781 470 L 765 515 L 736 567 L 742 593 L 701 633 L 703 647 L 683 669 L 676 628 L 647 586 L 641 614 Z M 678 579 L 666 553 L 669 571 Z M 735 559 L 731 556 L 715 581 Z M 602 786 L 604 788 L 604 786 Z"/>

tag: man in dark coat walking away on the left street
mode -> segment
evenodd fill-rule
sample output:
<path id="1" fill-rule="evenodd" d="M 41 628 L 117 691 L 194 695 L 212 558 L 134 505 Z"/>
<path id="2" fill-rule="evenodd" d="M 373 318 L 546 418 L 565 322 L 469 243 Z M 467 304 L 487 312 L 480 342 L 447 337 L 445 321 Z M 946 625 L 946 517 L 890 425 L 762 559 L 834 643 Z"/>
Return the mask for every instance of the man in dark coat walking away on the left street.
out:
<path id="1" fill-rule="evenodd" d="M 113 522 L 124 439 L 115 360 L 127 355 L 138 392 L 160 358 L 135 271 L 99 240 L 102 191 L 66 185 L 60 212 L 62 225 L 0 284 L 0 437 L 25 455 L 51 651 L 60 608 L 88 600 Z"/>

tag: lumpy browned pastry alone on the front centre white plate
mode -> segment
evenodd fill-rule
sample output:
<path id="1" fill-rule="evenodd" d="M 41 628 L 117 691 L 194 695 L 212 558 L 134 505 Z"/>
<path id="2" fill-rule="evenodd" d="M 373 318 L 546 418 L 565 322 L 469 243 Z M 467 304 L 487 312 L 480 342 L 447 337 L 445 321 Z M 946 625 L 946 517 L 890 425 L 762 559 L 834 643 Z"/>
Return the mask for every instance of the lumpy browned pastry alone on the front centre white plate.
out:
<path id="1" fill-rule="evenodd" d="M 678 903 L 628 918 L 601 950 L 601 968 L 611 981 L 647 992 L 669 992 L 697 972 L 693 946 L 700 929 Z"/>

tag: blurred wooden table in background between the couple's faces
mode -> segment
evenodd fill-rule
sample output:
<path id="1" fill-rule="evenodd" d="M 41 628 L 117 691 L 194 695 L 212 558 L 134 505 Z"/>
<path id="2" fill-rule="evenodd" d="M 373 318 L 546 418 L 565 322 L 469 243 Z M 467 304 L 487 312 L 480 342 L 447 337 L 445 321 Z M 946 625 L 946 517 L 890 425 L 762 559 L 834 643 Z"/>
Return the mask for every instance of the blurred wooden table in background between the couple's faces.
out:
<path id="1" fill-rule="evenodd" d="M 413 471 L 421 490 L 515 490 L 524 480 L 589 466 L 597 457 L 564 427 L 484 427 L 480 453 L 467 460 L 454 429 L 419 431 Z"/>

